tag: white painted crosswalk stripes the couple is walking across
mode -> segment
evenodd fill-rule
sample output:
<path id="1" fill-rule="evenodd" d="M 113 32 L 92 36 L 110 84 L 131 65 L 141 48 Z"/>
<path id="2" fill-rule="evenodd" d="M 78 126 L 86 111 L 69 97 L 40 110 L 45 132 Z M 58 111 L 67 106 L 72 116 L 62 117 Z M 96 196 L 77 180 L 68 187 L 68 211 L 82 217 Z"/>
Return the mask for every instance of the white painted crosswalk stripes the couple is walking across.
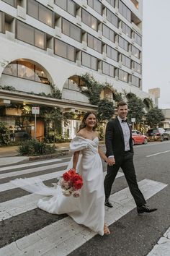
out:
<path id="1" fill-rule="evenodd" d="M 17 188 L 9 182 L 9 179 L 27 175 L 31 177 L 36 174 L 36 177 L 39 177 L 42 181 L 53 183 L 66 171 L 69 159 L 70 158 L 58 158 L 1 167 L 1 227 L 3 227 L 3 225 L 10 226 L 15 218 L 19 218 L 20 221 L 27 220 L 27 216 L 31 215 L 32 211 L 37 209 L 37 201 L 41 198 L 40 195 L 25 194 L 22 189 L 19 189 L 18 195 Z M 44 174 L 43 171 L 46 170 L 48 170 L 48 172 Z M 121 176 L 123 176 L 122 172 L 117 174 L 117 178 Z M 151 179 L 143 179 L 138 182 L 138 184 L 146 200 L 156 195 L 156 193 L 161 192 L 161 190 L 167 186 L 167 184 Z M 12 196 L 6 197 L 7 192 L 10 192 Z M 135 202 L 128 187 L 112 194 L 110 201 L 114 207 L 105 209 L 105 220 L 108 225 L 112 225 L 112 223 L 115 223 L 135 208 Z M 45 214 L 45 218 L 48 219 L 49 214 L 43 214 Z M 46 226 L 42 227 L 40 223 L 40 229 L 35 229 L 35 231 L 30 232 L 30 234 L 28 234 L 28 232 L 27 236 L 25 236 L 23 232 L 23 235 L 17 236 L 16 234 L 15 237 L 9 237 L 9 240 L 0 239 L 0 256 L 64 256 L 81 247 L 82 244 L 85 244 L 96 235 L 94 231 L 82 225 L 78 225 L 68 216 L 61 216 L 61 218 L 56 221 L 55 216 L 53 216 L 53 218 L 53 221 Z M 22 225 L 18 229 L 20 233 L 22 233 Z M 0 235 L 2 235 L 1 232 L 3 232 L 1 230 Z"/>

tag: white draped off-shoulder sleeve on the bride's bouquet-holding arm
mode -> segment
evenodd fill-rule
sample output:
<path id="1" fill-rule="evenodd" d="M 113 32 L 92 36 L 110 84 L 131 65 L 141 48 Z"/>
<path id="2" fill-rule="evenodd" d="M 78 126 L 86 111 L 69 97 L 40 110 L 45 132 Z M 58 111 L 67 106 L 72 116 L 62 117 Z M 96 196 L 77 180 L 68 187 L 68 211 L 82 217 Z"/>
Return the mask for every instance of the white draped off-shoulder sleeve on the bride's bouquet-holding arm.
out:
<path id="1" fill-rule="evenodd" d="M 71 140 L 70 149 L 72 152 L 80 151 L 88 148 L 88 145 L 89 142 L 84 137 L 76 136 Z"/>

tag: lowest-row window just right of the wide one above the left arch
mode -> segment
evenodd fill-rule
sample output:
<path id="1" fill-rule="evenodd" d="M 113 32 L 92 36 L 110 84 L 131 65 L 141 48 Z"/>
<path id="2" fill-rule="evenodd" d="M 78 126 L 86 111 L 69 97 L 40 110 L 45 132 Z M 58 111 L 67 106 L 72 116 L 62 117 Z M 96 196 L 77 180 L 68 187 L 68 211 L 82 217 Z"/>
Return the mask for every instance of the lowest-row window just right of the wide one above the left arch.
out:
<path id="1" fill-rule="evenodd" d="M 76 49 L 61 40 L 55 39 L 55 54 L 70 61 L 75 61 Z"/>

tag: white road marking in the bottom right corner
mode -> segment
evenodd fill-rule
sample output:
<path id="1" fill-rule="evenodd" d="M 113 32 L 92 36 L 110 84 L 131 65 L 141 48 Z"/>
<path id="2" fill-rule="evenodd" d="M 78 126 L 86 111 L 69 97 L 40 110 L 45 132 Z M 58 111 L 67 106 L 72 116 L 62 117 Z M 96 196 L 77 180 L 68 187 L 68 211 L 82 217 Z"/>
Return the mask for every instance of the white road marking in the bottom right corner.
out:
<path id="1" fill-rule="evenodd" d="M 166 230 L 158 243 L 153 247 L 147 256 L 169 256 L 170 255 L 170 227 Z"/>

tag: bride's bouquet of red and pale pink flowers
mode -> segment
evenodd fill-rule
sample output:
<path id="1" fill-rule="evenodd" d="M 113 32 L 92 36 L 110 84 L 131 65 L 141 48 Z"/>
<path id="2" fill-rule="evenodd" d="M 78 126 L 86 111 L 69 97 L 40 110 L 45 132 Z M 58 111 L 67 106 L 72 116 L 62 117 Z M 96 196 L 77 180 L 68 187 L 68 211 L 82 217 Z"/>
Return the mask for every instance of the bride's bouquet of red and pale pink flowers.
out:
<path id="1" fill-rule="evenodd" d="M 75 169 L 70 169 L 63 174 L 63 177 L 60 180 L 61 188 L 63 189 L 63 195 L 69 197 L 80 196 L 80 189 L 83 186 L 83 179 L 81 175 L 76 173 Z"/>

